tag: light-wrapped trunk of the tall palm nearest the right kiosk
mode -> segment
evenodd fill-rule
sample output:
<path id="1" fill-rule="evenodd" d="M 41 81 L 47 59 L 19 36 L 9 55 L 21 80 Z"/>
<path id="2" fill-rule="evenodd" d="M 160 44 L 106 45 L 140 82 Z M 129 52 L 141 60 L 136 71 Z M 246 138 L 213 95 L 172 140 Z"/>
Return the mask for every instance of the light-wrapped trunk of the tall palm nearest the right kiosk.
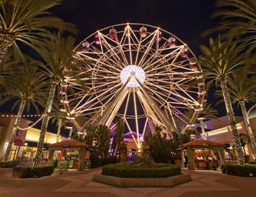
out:
<path id="1" fill-rule="evenodd" d="M 224 101 L 225 101 L 225 106 L 226 106 L 226 111 L 227 111 L 227 118 L 228 118 L 228 122 L 230 124 L 232 136 L 233 136 L 233 142 L 234 142 L 234 145 L 235 145 L 238 164 L 240 166 L 244 166 L 245 165 L 244 154 L 243 154 L 243 150 L 242 150 L 242 147 L 241 147 L 241 141 L 240 141 L 240 136 L 239 136 L 239 133 L 238 133 L 238 129 L 236 128 L 236 120 L 235 120 L 235 115 L 234 115 L 234 112 L 233 112 L 232 104 L 231 104 L 231 101 L 230 101 L 230 96 L 229 96 L 228 90 L 227 90 L 227 81 L 226 80 L 221 80 L 220 85 L 222 87 L 222 94 L 223 94 L 223 98 L 224 98 Z"/>

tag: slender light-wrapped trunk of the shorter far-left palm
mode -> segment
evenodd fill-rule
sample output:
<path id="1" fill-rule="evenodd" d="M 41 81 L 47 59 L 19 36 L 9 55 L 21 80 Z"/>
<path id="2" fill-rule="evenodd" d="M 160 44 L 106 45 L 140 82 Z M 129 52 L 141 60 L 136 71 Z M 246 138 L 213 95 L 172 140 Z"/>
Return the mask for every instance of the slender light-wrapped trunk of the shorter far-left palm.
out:
<path id="1" fill-rule="evenodd" d="M 16 132 L 18 130 L 18 125 L 20 124 L 21 116 L 23 114 L 23 110 L 25 108 L 25 105 L 26 105 L 26 100 L 21 100 L 20 107 L 19 107 L 19 110 L 18 110 L 18 115 L 16 117 L 15 124 L 14 124 L 14 127 L 12 129 L 12 134 L 11 134 L 11 137 L 10 137 L 10 141 L 8 142 L 7 150 L 6 150 L 5 155 L 4 155 L 4 161 L 9 161 L 10 152 L 12 150 L 12 144 L 14 142 Z"/>

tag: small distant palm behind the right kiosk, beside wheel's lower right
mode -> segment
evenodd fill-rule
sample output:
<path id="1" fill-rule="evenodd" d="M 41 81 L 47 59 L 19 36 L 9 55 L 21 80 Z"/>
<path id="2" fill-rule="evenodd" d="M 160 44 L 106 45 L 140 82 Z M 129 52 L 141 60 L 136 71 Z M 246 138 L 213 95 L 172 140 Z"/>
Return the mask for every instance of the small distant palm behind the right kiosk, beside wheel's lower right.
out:
<path id="1" fill-rule="evenodd" d="M 199 120 L 200 122 L 203 139 L 206 139 L 206 131 L 205 131 L 205 125 L 203 123 L 203 120 L 217 118 L 217 115 L 218 115 L 217 110 L 211 107 L 211 104 L 207 104 L 207 103 L 203 104 L 203 110 L 200 112 L 200 115 L 197 118 L 197 120 Z"/>

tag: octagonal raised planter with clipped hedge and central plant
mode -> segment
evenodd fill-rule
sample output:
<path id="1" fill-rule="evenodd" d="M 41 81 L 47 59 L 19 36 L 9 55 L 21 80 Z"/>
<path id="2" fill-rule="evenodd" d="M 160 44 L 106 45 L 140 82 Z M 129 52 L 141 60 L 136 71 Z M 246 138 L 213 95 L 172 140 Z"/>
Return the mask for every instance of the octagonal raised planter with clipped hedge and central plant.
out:
<path id="1" fill-rule="evenodd" d="M 132 163 L 114 163 L 102 167 L 102 174 L 94 174 L 94 181 L 121 188 L 171 187 L 191 180 L 181 174 L 181 168 L 170 163 L 154 163 L 148 155 L 135 156 Z"/>

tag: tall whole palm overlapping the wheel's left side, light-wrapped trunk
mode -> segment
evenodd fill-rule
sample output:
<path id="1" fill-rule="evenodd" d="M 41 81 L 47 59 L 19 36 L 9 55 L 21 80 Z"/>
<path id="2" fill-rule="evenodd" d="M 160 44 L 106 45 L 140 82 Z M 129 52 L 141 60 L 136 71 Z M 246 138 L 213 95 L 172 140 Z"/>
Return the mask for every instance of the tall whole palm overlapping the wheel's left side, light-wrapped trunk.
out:
<path id="1" fill-rule="evenodd" d="M 42 119 L 34 166 L 38 166 L 39 161 L 42 158 L 45 133 L 48 127 L 49 114 L 53 107 L 56 88 L 60 82 L 64 83 L 65 77 L 67 77 L 66 71 L 75 68 L 75 64 L 72 63 L 72 51 L 74 47 L 75 39 L 72 36 L 64 38 L 61 34 L 54 34 L 49 39 L 45 40 L 45 45 L 38 49 L 39 54 L 42 55 L 42 58 L 45 61 L 45 63 L 41 64 L 42 72 L 50 78 L 50 89 L 45 106 L 44 118 Z"/>

